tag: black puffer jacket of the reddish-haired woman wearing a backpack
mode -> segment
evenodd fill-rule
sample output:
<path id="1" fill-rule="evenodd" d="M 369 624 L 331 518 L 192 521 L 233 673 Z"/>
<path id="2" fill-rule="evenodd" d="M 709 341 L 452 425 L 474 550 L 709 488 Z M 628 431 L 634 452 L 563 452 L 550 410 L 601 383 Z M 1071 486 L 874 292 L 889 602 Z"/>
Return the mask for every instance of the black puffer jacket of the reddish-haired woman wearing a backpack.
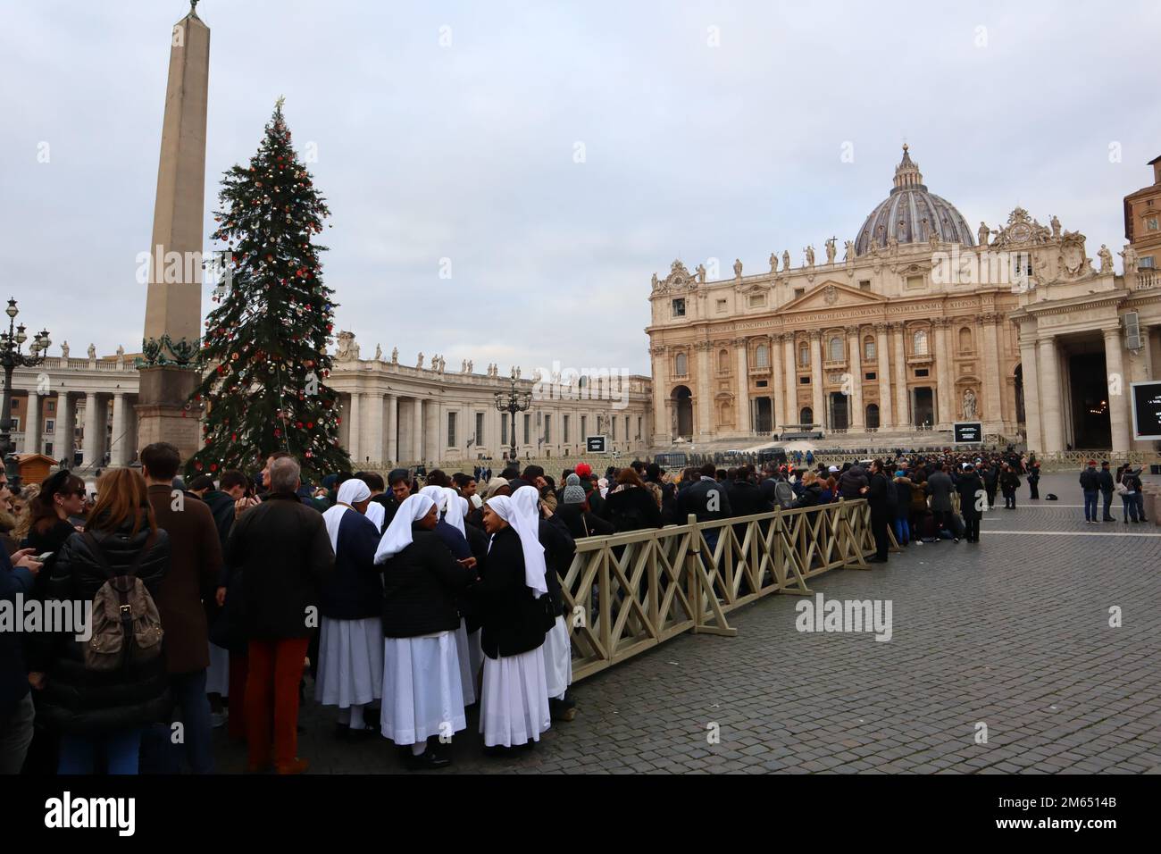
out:
<path id="1" fill-rule="evenodd" d="M 150 537 L 149 528 L 130 536 L 131 528 L 127 523 L 115 533 L 92 532 L 115 574 L 128 572 Z M 137 567 L 137 577 L 154 601 L 168 568 L 170 536 L 158 529 Z M 48 598 L 92 603 L 107 577 L 85 537 L 74 533 L 57 554 Z M 94 737 L 168 719 L 172 704 L 164 655 L 127 669 L 99 673 L 86 669 L 84 644 L 73 633 L 55 634 L 51 643 L 44 692 L 37 708 L 60 732 Z"/>

